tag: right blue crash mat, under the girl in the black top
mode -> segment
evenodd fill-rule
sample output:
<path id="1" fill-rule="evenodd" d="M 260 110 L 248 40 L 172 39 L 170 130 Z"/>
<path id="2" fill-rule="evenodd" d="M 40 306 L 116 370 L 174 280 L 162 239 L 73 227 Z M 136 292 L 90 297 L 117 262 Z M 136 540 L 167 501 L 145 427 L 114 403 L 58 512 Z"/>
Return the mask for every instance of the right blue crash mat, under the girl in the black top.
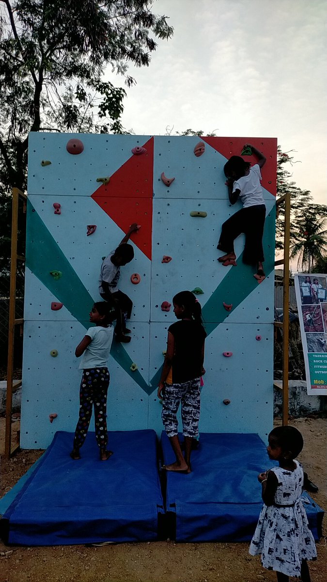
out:
<path id="1" fill-rule="evenodd" d="M 163 462 L 173 463 L 165 432 L 161 445 Z M 257 434 L 201 433 L 198 448 L 191 453 L 192 472 L 165 475 L 166 512 L 176 514 L 172 537 L 180 542 L 250 541 L 262 507 L 258 473 L 274 464 Z M 309 525 L 318 539 L 324 512 L 304 496 Z"/>

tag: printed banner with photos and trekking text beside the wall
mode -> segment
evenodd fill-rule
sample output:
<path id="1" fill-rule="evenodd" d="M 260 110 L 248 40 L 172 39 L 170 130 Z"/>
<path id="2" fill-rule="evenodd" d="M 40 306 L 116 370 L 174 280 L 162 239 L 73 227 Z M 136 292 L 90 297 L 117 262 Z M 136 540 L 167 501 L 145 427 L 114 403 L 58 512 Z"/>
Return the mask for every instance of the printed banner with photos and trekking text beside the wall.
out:
<path id="1" fill-rule="evenodd" d="M 308 394 L 327 394 L 327 275 L 294 275 Z"/>

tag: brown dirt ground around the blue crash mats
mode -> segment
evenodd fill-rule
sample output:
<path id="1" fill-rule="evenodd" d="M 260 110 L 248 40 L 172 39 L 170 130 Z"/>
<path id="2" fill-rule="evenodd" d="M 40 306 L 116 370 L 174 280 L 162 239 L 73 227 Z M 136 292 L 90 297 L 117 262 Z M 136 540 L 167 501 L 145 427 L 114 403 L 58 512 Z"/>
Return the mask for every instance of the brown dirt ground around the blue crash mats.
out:
<path id="1" fill-rule="evenodd" d="M 3 419 L 0 419 L 3 427 Z M 0 423 L 0 424 L 1 424 Z M 16 424 L 16 423 L 15 423 Z M 310 494 L 327 508 L 327 420 L 298 418 L 304 450 L 298 457 L 318 487 Z M 15 427 L 16 428 L 16 427 Z M 3 430 L 0 430 L 0 450 Z M 3 449 L 2 449 L 3 450 Z M 42 451 L 24 450 L 2 460 L 0 496 L 16 483 Z M 310 562 L 312 582 L 327 580 L 327 528 L 317 543 L 318 560 Z M 172 540 L 97 547 L 22 548 L 0 542 L 0 582 L 257 582 L 276 581 L 276 574 L 248 555 L 248 544 L 175 544 Z"/>

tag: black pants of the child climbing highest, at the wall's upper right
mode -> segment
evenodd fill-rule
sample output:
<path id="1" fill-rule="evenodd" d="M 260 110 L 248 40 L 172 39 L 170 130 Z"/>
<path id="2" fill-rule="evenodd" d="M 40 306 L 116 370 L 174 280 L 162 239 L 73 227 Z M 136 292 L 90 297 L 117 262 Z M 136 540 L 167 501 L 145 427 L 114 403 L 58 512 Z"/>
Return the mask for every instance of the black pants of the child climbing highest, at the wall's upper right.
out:
<path id="1" fill-rule="evenodd" d="M 264 249 L 262 248 L 262 236 L 264 234 L 265 217 L 266 207 L 264 204 L 241 208 L 223 223 L 217 249 L 225 253 L 233 253 L 234 240 L 243 232 L 246 237 L 243 262 L 247 265 L 255 265 L 258 261 L 263 262 L 265 257 Z"/>

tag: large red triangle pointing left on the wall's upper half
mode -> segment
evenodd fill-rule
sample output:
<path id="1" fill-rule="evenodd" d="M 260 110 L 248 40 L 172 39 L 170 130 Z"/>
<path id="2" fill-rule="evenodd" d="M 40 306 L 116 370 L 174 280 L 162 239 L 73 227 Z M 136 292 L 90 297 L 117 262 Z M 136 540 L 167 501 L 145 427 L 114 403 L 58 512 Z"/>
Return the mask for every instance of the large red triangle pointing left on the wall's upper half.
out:
<path id="1" fill-rule="evenodd" d="M 123 232 L 126 233 L 133 222 L 141 225 L 140 230 L 131 235 L 131 240 L 151 260 L 153 137 L 143 147 L 147 150 L 146 153 L 132 154 L 113 173 L 109 183 L 102 184 L 91 198 Z"/>

